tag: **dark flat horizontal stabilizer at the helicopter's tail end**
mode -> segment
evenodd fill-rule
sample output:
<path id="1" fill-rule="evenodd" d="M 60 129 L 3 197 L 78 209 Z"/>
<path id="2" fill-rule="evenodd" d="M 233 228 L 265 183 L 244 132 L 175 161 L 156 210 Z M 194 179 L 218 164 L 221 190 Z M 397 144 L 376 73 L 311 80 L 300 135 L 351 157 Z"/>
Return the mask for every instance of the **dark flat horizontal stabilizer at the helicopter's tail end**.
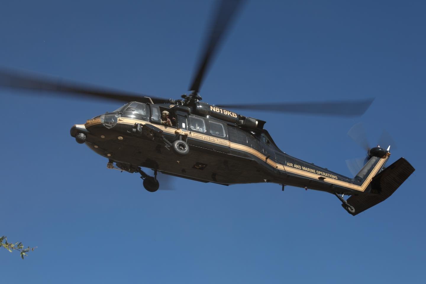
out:
<path id="1" fill-rule="evenodd" d="M 351 214 L 355 216 L 386 200 L 413 172 L 413 166 L 404 158 L 388 166 L 371 181 L 371 193 L 377 195 L 353 195 L 348 198 L 348 204 L 355 208 Z"/>

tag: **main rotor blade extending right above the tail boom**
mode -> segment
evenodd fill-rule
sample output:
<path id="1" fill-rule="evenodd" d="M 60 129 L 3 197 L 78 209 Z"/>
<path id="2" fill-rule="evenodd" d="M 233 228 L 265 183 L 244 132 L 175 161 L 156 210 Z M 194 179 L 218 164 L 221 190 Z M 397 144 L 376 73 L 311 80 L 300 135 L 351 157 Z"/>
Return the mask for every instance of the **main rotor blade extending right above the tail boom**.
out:
<path id="1" fill-rule="evenodd" d="M 247 109 L 268 112 L 293 112 L 312 115 L 359 116 L 366 112 L 373 100 L 374 99 L 306 103 L 220 104 L 218 106 L 226 109 Z"/>

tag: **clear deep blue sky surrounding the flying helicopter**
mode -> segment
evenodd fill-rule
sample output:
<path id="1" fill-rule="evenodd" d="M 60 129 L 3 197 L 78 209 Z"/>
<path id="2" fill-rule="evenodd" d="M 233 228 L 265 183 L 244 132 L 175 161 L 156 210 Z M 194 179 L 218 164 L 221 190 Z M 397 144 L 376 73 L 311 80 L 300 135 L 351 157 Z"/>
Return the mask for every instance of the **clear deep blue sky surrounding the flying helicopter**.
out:
<path id="1" fill-rule="evenodd" d="M 3 1 L 0 65 L 178 98 L 193 76 L 213 1 Z M 276 184 L 138 175 L 69 135 L 120 104 L 1 89 L 0 235 L 37 246 L 0 251 L 2 283 L 419 283 L 425 265 L 426 39 L 423 1 L 248 1 L 201 89 L 211 104 L 375 98 L 360 118 L 239 112 L 290 155 L 350 175 L 391 133 L 388 165 L 416 172 L 352 217 L 333 195 Z M 25 95 L 25 96 L 22 96 Z M 247 169 L 250 170 L 250 169 Z M 418 202 L 420 201 L 420 202 Z"/>

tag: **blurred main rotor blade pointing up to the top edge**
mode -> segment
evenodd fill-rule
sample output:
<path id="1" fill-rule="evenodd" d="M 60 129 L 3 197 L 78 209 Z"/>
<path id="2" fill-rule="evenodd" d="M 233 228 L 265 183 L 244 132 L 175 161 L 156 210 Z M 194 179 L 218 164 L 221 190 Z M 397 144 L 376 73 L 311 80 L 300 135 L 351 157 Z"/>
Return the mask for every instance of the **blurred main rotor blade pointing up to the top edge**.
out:
<path id="1" fill-rule="evenodd" d="M 210 23 L 210 34 L 204 41 L 204 47 L 199 57 L 198 66 L 190 86 L 190 91 L 199 92 L 204 73 L 209 68 L 211 59 L 217 51 L 223 36 L 226 34 L 230 23 L 235 18 L 236 12 L 245 0 L 221 0 L 218 4 L 216 15 Z"/>

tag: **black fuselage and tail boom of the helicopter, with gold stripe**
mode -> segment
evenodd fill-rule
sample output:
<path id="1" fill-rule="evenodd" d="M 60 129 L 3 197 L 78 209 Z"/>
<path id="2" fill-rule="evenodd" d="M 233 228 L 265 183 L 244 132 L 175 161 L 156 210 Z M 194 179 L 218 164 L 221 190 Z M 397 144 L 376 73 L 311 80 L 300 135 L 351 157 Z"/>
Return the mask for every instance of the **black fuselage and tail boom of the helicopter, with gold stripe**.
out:
<path id="1" fill-rule="evenodd" d="M 224 185 L 270 182 L 349 195 L 368 192 L 371 178 L 389 157 L 373 157 L 365 177 L 348 178 L 287 155 L 266 130 L 250 131 L 208 115 L 173 108 L 132 102 L 115 112 L 89 119 L 84 125 L 75 125 L 71 132 L 73 136 L 85 132 L 86 145 L 110 161 L 169 175 Z M 173 113 L 173 126 L 161 123 L 164 109 Z M 187 135 L 189 153 L 179 156 L 158 140 L 134 135 L 132 129 L 137 124 L 161 129 L 169 141 L 177 132 Z"/>

